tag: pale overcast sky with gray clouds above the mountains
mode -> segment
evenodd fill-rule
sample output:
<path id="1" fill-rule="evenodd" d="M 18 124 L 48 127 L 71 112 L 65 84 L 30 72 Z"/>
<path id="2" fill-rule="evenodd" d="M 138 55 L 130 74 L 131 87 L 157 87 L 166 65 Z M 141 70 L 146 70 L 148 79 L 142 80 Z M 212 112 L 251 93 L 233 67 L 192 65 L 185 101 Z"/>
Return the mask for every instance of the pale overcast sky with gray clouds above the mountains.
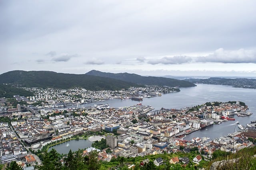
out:
<path id="1" fill-rule="evenodd" d="M 256 77 L 255 0 L 3 0 L 0 74 Z"/>

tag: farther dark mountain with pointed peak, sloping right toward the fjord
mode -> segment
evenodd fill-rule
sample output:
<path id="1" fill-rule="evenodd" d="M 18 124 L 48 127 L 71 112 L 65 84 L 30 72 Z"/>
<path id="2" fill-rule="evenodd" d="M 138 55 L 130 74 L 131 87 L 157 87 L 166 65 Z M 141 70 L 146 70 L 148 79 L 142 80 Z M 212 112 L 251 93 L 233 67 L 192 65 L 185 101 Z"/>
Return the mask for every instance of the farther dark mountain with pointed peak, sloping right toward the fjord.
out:
<path id="1" fill-rule="evenodd" d="M 130 74 L 126 72 L 115 74 L 110 72 L 100 72 L 97 70 L 91 70 L 87 72 L 86 75 L 114 78 L 117 80 L 122 80 L 122 81 L 136 83 L 136 84 L 145 84 L 145 85 L 170 86 L 170 87 L 196 86 L 193 83 L 186 82 L 183 80 L 177 80 L 173 78 L 164 78 L 164 77 L 140 76 L 138 74 Z"/>

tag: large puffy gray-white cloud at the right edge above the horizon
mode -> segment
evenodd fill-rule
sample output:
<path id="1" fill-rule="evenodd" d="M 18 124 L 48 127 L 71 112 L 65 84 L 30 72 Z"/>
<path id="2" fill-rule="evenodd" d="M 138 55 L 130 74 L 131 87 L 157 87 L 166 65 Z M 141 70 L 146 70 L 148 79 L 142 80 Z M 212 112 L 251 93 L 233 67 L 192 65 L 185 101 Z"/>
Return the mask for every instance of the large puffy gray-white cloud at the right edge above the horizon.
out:
<path id="1" fill-rule="evenodd" d="M 196 61 L 213 63 L 256 63 L 256 51 L 244 49 L 225 51 L 223 48 L 220 48 L 208 56 L 197 57 Z"/>

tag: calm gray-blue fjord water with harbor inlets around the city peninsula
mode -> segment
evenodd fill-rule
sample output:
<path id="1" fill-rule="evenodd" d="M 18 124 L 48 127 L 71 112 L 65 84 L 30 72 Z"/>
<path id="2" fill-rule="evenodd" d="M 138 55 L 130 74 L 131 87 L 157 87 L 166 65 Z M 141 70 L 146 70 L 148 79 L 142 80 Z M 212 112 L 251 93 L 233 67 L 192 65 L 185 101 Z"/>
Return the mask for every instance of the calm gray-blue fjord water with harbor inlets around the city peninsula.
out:
<path id="1" fill-rule="evenodd" d="M 196 84 L 195 87 L 180 88 L 180 92 L 163 94 L 161 97 L 143 98 L 143 105 L 150 105 L 156 110 L 162 107 L 166 109 L 180 109 L 186 106 L 197 106 L 206 102 L 228 102 L 242 101 L 249 107 L 251 116 L 237 117 L 235 121 L 225 121 L 220 125 L 211 125 L 208 128 L 201 129 L 187 135 L 186 140 L 191 140 L 193 137 L 210 137 L 214 139 L 238 131 L 238 125 L 234 124 L 239 121 L 240 124 L 246 125 L 251 120 L 256 120 L 256 89 L 248 88 L 233 88 L 232 86 L 212 85 L 212 84 Z M 82 106 L 93 106 L 94 104 L 108 103 L 110 107 L 132 106 L 137 104 L 137 101 L 112 99 L 104 102 L 96 102 L 84 104 Z"/>

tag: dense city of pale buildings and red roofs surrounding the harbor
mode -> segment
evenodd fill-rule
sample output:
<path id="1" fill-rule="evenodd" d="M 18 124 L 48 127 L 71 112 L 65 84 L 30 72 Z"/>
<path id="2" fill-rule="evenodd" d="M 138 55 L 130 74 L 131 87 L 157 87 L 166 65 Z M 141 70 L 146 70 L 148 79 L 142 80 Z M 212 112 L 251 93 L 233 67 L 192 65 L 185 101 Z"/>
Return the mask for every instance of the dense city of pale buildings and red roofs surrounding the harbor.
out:
<path id="1" fill-rule="evenodd" d="M 26 88 L 35 96 L 14 96 L 16 102 L 26 105 L 12 105 L 6 98 L 0 99 L 1 117 L 1 163 L 16 161 L 22 168 L 38 166 L 43 150 L 71 139 L 88 139 L 94 147 L 84 150 L 87 155 L 98 151 L 98 160 L 110 162 L 113 158 L 132 158 L 164 153 L 191 152 L 199 154 L 192 160 L 174 157 L 170 164 L 198 164 L 209 161 L 214 151 L 236 153 L 253 145 L 256 137 L 256 122 L 233 134 L 210 140 L 209 137 L 194 137 L 184 140 L 186 135 L 222 121 L 232 121 L 234 115 L 250 116 L 244 102 L 207 102 L 198 106 L 181 109 L 154 110 L 143 106 L 143 98 L 161 97 L 164 93 L 177 92 L 177 88 L 147 86 L 118 91 L 88 91 L 82 88 L 69 90 Z M 108 104 L 78 108 L 78 104 L 108 99 L 138 100 L 130 107 L 114 108 Z M 36 104 L 36 105 L 35 105 Z M 74 107 L 66 108 L 66 105 Z M 8 124 L 9 123 L 9 124 Z M 239 122 L 236 122 L 237 124 Z M 97 145 L 100 143 L 100 145 Z M 104 145 L 103 145 L 104 144 Z M 69 144 L 68 144 L 69 145 Z M 102 146 L 104 147 L 102 147 Z M 82 149 L 82 148 L 81 148 Z M 51 149 L 49 149 L 51 150 Z M 38 157 L 39 156 L 39 157 Z M 64 156 L 65 157 L 65 156 Z M 42 159 L 42 157 L 41 157 Z M 184 160 L 184 161 L 183 161 Z M 64 159 L 62 158 L 64 162 Z M 156 166 L 166 164 L 159 157 Z M 129 168 L 135 167 L 131 164 Z M 200 167 L 200 166 L 199 166 Z"/>

